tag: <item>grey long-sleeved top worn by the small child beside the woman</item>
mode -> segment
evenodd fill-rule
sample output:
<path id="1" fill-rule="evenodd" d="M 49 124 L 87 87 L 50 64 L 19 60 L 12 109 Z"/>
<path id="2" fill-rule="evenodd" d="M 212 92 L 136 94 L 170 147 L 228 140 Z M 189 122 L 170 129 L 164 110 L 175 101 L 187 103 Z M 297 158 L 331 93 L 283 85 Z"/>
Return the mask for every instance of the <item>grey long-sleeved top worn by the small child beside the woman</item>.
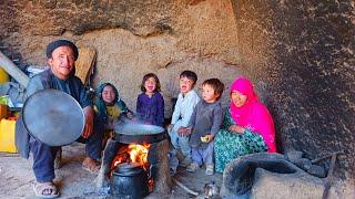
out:
<path id="1" fill-rule="evenodd" d="M 192 134 L 189 140 L 191 147 L 206 148 L 209 143 L 202 143 L 201 137 L 206 134 L 213 136 L 219 132 L 223 119 L 221 102 L 206 103 L 200 101 L 191 116 L 189 127 L 192 127 Z"/>

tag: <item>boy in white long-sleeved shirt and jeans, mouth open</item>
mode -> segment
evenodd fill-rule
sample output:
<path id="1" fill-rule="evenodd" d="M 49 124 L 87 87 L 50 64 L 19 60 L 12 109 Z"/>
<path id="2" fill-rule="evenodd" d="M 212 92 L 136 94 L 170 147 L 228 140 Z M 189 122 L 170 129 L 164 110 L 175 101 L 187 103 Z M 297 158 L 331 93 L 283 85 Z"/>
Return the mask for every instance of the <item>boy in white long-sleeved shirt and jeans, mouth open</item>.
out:
<path id="1" fill-rule="evenodd" d="M 175 104 L 174 113 L 169 125 L 169 136 L 171 143 L 175 149 L 170 153 L 170 167 L 171 172 L 175 172 L 179 161 L 176 160 L 176 149 L 181 149 L 184 155 L 182 166 L 189 166 L 191 164 L 191 148 L 189 146 L 189 135 L 184 132 L 178 130 L 180 127 L 186 127 L 189 125 L 191 115 L 195 105 L 199 103 L 200 97 L 193 90 L 196 84 L 197 75 L 192 71 L 183 71 L 180 74 L 180 94 Z"/>

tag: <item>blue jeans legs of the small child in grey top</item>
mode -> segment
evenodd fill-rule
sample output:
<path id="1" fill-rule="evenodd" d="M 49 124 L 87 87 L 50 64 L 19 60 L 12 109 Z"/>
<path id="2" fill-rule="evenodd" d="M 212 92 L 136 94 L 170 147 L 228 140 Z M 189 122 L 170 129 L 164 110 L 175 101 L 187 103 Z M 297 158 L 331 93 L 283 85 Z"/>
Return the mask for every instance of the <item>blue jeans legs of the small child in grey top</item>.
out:
<path id="1" fill-rule="evenodd" d="M 192 147 L 191 149 L 192 161 L 199 166 L 213 165 L 213 142 L 207 143 L 207 147 Z"/>

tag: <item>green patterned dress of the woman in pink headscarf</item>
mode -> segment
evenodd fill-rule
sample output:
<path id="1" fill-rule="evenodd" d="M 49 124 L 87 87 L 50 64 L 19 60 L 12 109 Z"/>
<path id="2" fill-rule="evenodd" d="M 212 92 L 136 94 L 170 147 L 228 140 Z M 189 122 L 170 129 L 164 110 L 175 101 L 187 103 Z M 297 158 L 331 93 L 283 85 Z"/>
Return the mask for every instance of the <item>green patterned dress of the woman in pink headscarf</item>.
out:
<path id="1" fill-rule="evenodd" d="M 225 165 L 240 156 L 267 150 L 267 146 L 260 134 L 247 128 L 244 134 L 230 132 L 229 127 L 232 125 L 235 125 L 235 122 L 229 109 L 225 112 L 221 129 L 214 138 L 216 172 L 223 172 Z"/>

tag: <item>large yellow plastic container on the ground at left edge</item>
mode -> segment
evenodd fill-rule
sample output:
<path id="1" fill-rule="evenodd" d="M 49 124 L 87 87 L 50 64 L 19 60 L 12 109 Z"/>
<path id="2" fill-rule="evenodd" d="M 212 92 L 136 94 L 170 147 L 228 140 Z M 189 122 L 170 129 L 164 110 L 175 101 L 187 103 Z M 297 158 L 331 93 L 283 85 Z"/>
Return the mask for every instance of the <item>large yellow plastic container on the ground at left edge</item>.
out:
<path id="1" fill-rule="evenodd" d="M 18 153 L 14 145 L 16 121 L 1 119 L 0 122 L 0 151 Z"/>

